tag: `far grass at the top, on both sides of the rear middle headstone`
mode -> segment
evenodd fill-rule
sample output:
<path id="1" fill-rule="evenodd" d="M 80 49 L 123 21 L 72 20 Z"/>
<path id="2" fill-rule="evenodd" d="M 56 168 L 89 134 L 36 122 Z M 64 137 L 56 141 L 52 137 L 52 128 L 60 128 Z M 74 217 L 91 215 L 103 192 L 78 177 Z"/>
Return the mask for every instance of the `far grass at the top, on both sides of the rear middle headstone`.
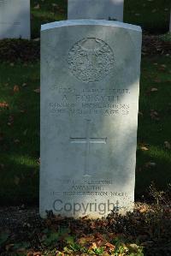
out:
<path id="1" fill-rule="evenodd" d="M 54 6 L 54 3 L 57 6 Z M 35 7 L 39 8 L 35 9 Z M 32 38 L 39 37 L 41 24 L 67 20 L 67 0 L 31 0 Z M 125 0 L 124 22 L 140 25 L 150 33 L 166 33 L 170 0 Z M 115 17 L 110 17 L 115 18 Z"/>

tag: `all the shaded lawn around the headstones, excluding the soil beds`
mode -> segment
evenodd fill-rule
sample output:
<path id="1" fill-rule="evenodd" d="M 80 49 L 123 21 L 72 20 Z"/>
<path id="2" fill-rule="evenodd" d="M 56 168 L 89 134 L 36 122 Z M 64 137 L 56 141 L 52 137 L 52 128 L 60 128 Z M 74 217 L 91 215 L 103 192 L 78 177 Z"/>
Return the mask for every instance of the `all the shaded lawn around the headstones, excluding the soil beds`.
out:
<path id="1" fill-rule="evenodd" d="M 67 18 L 66 0 L 31 0 L 31 3 L 32 38 L 39 36 L 40 24 Z M 127 0 L 124 15 L 127 22 L 164 31 L 168 29 L 169 0 Z M 170 57 L 143 57 L 137 198 L 145 193 L 150 182 L 155 182 L 159 189 L 171 182 L 170 69 Z M 14 60 L 1 63 L 0 74 L 0 200 L 3 203 L 38 202 L 39 63 Z"/>

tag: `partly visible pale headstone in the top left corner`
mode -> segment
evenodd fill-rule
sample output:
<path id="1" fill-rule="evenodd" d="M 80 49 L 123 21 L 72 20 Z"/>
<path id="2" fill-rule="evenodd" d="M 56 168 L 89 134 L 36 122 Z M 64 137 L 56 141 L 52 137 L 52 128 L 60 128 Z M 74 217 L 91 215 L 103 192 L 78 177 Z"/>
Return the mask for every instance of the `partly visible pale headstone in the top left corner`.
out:
<path id="1" fill-rule="evenodd" d="M 0 0 L 0 39 L 30 39 L 30 0 Z"/>

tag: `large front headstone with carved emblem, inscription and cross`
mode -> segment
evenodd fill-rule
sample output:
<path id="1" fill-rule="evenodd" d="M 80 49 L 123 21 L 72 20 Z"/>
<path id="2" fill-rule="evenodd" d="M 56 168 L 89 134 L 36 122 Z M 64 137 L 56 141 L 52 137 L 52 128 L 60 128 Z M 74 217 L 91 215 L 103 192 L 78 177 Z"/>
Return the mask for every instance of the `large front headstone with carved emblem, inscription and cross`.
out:
<path id="1" fill-rule="evenodd" d="M 132 211 L 140 27 L 60 21 L 41 29 L 40 214 Z"/>

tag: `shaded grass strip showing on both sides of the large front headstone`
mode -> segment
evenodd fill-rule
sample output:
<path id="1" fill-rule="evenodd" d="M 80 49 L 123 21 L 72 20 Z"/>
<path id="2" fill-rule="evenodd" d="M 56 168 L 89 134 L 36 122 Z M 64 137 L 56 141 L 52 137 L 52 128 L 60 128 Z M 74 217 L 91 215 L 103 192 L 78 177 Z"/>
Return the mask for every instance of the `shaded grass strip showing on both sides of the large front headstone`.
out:
<path id="1" fill-rule="evenodd" d="M 164 65 L 164 66 L 163 66 Z M 155 182 L 166 188 L 171 182 L 171 69 L 170 57 L 144 57 L 142 60 L 139 132 L 136 171 L 136 196 Z M 3 202 L 38 201 L 39 158 L 39 63 L 0 65 L 0 200 Z M 22 86 L 27 83 L 27 86 Z M 14 92 L 18 85 L 19 92 Z M 151 88 L 158 91 L 150 92 Z M 159 120 L 151 119 L 156 110 Z M 157 116 L 158 117 L 158 116 Z M 20 140 L 20 141 L 18 141 Z M 141 150 L 141 146 L 149 150 Z M 147 163 L 155 163 L 148 166 Z"/>

